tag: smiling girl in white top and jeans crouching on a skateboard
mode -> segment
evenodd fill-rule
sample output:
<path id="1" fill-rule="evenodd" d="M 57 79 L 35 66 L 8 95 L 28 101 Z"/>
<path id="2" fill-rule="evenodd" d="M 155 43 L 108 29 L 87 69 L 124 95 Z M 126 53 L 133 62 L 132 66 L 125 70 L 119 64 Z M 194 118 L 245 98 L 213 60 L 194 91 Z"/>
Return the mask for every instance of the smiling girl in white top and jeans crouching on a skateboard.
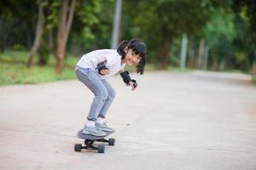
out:
<path id="1" fill-rule="evenodd" d="M 137 82 L 131 79 L 124 67 L 126 64 L 136 65 L 137 73 L 143 74 L 146 53 L 146 44 L 135 38 L 121 42 L 117 50 L 99 49 L 82 56 L 75 73 L 79 81 L 95 95 L 84 125 L 84 134 L 104 136 L 105 132 L 114 131 L 105 121 L 108 108 L 115 97 L 115 91 L 106 78 L 119 72 L 126 85 L 135 90 Z"/>

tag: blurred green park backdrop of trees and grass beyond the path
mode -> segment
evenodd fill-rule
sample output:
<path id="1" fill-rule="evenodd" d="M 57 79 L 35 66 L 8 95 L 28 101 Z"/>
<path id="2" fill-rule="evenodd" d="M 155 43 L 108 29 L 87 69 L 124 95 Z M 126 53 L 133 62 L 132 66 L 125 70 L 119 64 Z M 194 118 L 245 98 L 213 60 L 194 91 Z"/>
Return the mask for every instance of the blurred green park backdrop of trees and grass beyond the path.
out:
<path id="1" fill-rule="evenodd" d="M 6 0 L 0 8 L 0 85 L 74 78 L 83 54 L 133 37 L 148 45 L 146 73 L 238 71 L 256 79 L 253 0 Z"/>

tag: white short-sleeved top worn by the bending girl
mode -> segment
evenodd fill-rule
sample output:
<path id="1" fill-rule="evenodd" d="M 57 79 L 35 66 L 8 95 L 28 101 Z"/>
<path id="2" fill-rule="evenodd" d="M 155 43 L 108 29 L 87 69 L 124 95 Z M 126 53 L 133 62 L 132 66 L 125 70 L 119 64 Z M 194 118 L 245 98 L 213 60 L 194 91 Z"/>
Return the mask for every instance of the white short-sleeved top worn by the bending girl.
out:
<path id="1" fill-rule="evenodd" d="M 98 49 L 84 54 L 77 65 L 96 71 L 97 65 L 100 62 L 106 61 L 105 65 L 109 69 L 109 74 L 102 77 L 110 77 L 125 67 L 125 64 L 121 64 L 121 58 L 116 49 Z"/>

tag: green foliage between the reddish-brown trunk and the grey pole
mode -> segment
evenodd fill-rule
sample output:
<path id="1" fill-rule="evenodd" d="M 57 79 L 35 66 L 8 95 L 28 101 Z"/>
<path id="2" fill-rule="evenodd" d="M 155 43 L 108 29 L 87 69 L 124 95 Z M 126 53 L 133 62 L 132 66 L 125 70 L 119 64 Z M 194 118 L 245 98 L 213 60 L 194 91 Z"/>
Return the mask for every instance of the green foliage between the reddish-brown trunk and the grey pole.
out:
<path id="1" fill-rule="evenodd" d="M 113 0 L 90 0 L 78 3 L 68 48 L 73 54 L 96 48 L 109 48 L 113 25 Z"/>

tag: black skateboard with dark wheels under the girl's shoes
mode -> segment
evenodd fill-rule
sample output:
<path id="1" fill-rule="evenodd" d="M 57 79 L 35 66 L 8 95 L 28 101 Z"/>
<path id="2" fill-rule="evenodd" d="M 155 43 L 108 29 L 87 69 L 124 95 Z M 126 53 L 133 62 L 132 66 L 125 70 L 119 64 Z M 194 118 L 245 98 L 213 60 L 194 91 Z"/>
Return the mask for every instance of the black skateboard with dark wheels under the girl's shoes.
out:
<path id="1" fill-rule="evenodd" d="M 104 144 L 95 144 L 95 142 L 102 142 L 102 143 L 108 143 L 108 145 L 113 146 L 115 143 L 115 139 L 105 139 L 108 135 L 110 135 L 113 132 L 105 132 L 107 133 L 104 136 L 94 136 L 90 134 L 84 134 L 82 133 L 82 130 L 79 130 L 77 133 L 77 137 L 79 139 L 84 139 L 84 146 L 82 144 L 75 144 L 74 150 L 75 151 L 81 151 L 84 150 L 98 150 L 98 153 L 104 153 L 105 152 L 105 145 Z"/>

